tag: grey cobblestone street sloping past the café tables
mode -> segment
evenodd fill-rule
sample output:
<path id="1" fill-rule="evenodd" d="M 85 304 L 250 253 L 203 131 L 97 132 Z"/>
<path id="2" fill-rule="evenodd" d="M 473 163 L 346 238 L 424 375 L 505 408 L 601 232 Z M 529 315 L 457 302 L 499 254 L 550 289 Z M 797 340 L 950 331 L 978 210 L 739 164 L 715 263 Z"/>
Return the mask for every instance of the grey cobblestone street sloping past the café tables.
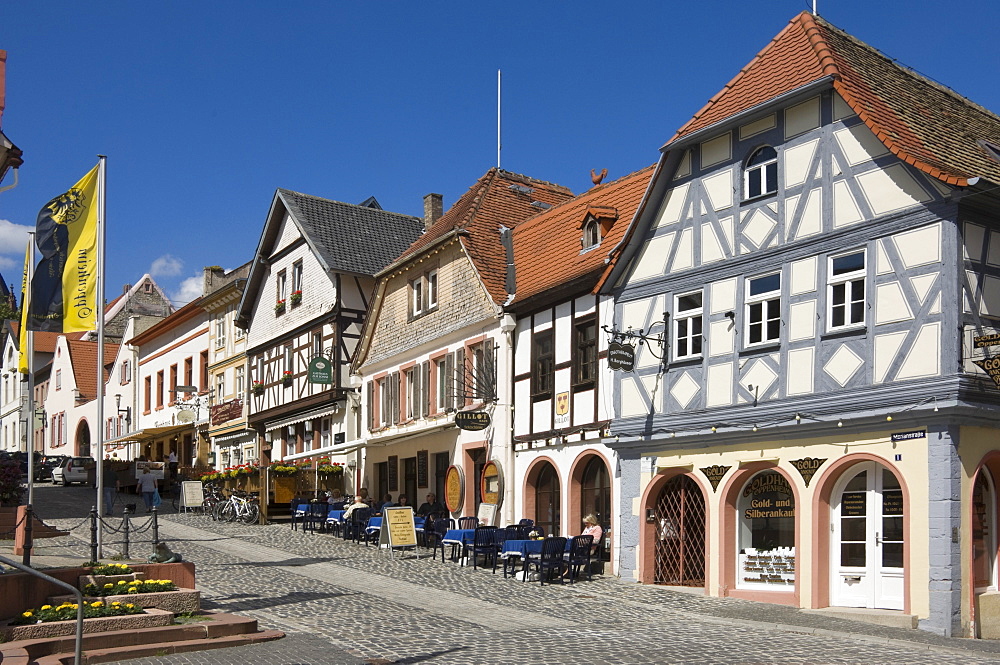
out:
<path id="1" fill-rule="evenodd" d="M 36 510 L 73 534 L 38 541 L 39 560 L 89 556 L 93 490 L 40 485 Z M 120 515 L 120 513 L 119 513 Z M 145 516 L 136 522 L 141 524 Z M 120 517 L 111 518 L 117 525 Z M 385 551 L 288 524 L 166 514 L 160 535 L 196 565 L 206 609 L 287 637 L 137 663 L 1000 663 L 1000 644 L 949 639 L 611 577 L 522 583 L 499 570 Z M 134 558 L 150 551 L 147 531 Z M 118 536 L 106 539 L 105 555 Z M 10 543 L 4 543 L 9 553 Z M 5 554 L 9 555 L 9 554 Z M 75 559 L 75 561 L 74 561 Z"/>

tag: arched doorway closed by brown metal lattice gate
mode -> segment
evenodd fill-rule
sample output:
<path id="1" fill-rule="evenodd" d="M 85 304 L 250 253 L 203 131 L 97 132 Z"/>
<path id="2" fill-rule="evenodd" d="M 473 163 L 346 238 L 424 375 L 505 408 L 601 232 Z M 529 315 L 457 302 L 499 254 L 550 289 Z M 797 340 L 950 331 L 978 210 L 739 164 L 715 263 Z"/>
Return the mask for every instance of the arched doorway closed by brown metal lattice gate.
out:
<path id="1" fill-rule="evenodd" d="M 654 584 L 705 586 L 705 497 L 687 476 L 667 481 L 656 518 Z"/>

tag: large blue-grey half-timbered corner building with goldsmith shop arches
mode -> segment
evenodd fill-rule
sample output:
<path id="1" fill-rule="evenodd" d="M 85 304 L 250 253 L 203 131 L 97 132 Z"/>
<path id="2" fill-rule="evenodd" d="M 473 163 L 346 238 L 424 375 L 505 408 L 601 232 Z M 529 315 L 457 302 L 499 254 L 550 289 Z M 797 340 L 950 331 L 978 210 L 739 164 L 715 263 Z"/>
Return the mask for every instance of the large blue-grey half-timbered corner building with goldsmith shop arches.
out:
<path id="1" fill-rule="evenodd" d="M 609 282 L 623 576 L 997 616 L 998 145 L 808 13 L 667 142 Z"/>

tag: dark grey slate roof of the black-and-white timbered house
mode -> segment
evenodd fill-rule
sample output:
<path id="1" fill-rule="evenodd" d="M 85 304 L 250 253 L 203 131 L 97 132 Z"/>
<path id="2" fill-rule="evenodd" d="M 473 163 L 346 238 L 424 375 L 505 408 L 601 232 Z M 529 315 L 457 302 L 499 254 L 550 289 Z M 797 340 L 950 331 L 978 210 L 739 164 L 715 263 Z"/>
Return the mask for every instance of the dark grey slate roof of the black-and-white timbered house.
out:
<path id="1" fill-rule="evenodd" d="M 280 188 L 277 195 L 327 267 L 338 272 L 374 275 L 424 229 L 421 218 L 382 210 L 374 199 L 354 205 Z"/>

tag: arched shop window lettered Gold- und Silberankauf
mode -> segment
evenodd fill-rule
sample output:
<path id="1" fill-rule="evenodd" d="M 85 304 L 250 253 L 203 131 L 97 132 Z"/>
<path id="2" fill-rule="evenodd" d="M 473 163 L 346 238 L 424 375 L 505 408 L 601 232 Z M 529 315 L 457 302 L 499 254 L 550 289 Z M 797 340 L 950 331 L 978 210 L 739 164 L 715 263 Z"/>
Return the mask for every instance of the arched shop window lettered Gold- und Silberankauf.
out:
<path id="1" fill-rule="evenodd" d="M 795 585 L 795 496 L 788 480 L 762 471 L 737 502 L 739 570 L 743 589 L 791 590 Z"/>

